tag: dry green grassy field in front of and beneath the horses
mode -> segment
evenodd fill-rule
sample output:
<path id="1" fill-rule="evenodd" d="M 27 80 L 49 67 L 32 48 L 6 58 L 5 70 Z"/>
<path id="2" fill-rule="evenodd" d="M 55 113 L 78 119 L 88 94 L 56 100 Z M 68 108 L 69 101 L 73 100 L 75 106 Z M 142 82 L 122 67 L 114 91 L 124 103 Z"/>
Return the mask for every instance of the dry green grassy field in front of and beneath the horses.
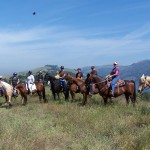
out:
<path id="1" fill-rule="evenodd" d="M 54 101 L 49 89 L 48 103 L 29 96 L 21 106 L 20 97 L 11 109 L 0 108 L 1 150 L 150 150 L 150 101 L 138 98 L 136 107 L 125 98 L 103 105 L 99 95 L 82 107 L 82 95 L 74 103 Z M 0 98 L 4 102 L 4 98 Z"/>

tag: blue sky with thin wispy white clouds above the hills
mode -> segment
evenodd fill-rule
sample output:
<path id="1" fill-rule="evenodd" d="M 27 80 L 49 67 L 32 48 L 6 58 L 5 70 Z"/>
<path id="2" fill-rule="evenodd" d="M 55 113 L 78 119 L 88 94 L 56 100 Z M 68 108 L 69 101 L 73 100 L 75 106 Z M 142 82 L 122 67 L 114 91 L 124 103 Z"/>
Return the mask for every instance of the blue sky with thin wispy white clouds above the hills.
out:
<path id="1" fill-rule="evenodd" d="M 149 59 L 150 1 L 3 0 L 0 53 L 0 73 Z"/>

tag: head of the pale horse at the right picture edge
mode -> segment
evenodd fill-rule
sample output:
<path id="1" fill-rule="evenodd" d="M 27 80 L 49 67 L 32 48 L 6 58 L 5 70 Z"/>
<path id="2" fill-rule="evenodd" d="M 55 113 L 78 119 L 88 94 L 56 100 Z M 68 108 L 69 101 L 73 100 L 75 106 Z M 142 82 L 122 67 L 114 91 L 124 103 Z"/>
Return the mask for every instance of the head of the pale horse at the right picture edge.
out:
<path id="1" fill-rule="evenodd" d="M 150 88 L 150 76 L 145 76 L 144 74 L 141 76 L 139 80 L 139 92 L 142 92 L 145 88 Z"/>

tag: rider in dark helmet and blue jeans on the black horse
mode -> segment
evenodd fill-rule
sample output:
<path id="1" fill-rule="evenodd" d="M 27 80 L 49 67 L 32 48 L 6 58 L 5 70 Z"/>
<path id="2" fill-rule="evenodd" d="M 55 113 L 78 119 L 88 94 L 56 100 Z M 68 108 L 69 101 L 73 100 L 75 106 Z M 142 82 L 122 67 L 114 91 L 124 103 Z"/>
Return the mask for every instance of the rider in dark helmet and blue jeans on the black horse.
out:
<path id="1" fill-rule="evenodd" d="M 64 77 L 67 75 L 67 73 L 64 70 L 64 66 L 61 66 L 60 69 L 61 70 L 59 71 L 59 76 L 60 76 L 59 81 L 60 81 L 60 84 L 63 87 L 63 92 L 65 92 L 66 88 L 67 88 L 67 83 L 66 83 L 66 80 L 64 79 Z"/>

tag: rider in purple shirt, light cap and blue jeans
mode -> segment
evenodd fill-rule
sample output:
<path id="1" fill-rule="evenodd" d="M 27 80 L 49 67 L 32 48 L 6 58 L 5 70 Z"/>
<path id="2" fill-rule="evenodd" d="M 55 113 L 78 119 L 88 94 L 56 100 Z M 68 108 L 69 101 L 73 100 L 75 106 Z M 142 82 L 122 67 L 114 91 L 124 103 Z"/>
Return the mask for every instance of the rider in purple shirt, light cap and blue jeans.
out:
<path id="1" fill-rule="evenodd" d="M 117 62 L 114 62 L 113 65 L 114 65 L 114 68 L 112 69 L 112 71 L 110 72 L 110 74 L 107 75 L 107 77 L 112 78 L 112 81 L 111 81 L 111 83 L 110 83 L 111 89 L 112 89 L 110 95 L 111 95 L 112 97 L 114 97 L 115 84 L 116 84 L 116 83 L 119 81 L 119 79 L 120 79 L 120 69 L 119 69 L 119 67 L 118 67 L 118 63 L 117 63 Z"/>

